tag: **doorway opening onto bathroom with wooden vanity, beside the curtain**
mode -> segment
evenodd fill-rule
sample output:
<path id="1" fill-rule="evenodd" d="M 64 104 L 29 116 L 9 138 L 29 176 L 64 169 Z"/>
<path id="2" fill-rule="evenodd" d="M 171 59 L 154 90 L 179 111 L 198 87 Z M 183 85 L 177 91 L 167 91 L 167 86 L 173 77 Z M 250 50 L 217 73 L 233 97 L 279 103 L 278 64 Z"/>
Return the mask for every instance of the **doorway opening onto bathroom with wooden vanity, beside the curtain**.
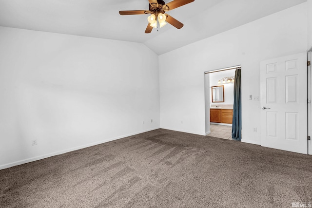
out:
<path id="1" fill-rule="evenodd" d="M 234 66 L 205 72 L 206 135 L 232 140 Z"/>

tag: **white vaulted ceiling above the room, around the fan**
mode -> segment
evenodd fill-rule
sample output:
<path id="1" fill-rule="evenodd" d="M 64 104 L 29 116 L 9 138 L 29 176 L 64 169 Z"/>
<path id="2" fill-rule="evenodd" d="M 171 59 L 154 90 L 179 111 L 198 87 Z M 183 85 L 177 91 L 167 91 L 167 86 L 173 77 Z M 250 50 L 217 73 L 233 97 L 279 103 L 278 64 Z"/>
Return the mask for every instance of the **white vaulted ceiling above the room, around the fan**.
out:
<path id="1" fill-rule="evenodd" d="M 160 55 L 305 1 L 195 0 L 167 12 L 183 28 L 145 34 L 148 15 L 118 12 L 148 10 L 148 0 L 0 0 L 0 26 L 140 42 Z"/>

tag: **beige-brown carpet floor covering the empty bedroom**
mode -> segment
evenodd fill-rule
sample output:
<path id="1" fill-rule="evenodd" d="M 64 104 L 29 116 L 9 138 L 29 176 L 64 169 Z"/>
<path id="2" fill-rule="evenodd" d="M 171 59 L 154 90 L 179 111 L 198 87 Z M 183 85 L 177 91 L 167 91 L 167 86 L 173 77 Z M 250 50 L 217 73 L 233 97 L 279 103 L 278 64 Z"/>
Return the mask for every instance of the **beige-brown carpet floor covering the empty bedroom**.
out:
<path id="1" fill-rule="evenodd" d="M 312 156 L 155 130 L 0 170 L 1 208 L 291 208 Z"/>

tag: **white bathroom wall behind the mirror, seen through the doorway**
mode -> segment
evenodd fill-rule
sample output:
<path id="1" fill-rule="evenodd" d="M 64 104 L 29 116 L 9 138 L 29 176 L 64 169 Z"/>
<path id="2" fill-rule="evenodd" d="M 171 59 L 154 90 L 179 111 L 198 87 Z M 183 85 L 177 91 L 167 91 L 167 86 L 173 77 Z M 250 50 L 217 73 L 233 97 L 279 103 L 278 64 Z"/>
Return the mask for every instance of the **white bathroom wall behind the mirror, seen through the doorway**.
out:
<path id="1" fill-rule="evenodd" d="M 230 67 L 230 66 L 229 66 Z M 235 76 L 235 69 L 222 72 L 210 73 L 210 92 L 212 86 L 224 86 L 224 102 L 223 103 L 210 103 L 211 105 L 233 105 L 234 104 L 234 82 L 218 84 L 218 80 L 223 77 Z M 210 100 L 212 100 L 212 94 L 210 93 Z"/>

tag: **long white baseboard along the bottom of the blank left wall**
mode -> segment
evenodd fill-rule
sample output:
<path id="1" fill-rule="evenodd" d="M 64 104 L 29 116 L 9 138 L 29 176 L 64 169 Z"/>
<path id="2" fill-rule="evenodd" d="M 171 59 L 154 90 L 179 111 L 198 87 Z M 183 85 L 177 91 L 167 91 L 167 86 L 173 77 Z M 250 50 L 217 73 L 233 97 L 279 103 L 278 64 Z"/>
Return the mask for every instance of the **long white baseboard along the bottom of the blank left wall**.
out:
<path id="1" fill-rule="evenodd" d="M 103 144 L 103 143 L 114 141 L 114 140 L 121 139 L 121 138 L 124 138 L 124 137 L 133 136 L 133 135 L 136 135 L 136 134 L 139 134 L 139 133 L 150 132 L 150 131 L 153 131 L 153 130 L 156 130 L 156 129 L 159 129 L 159 127 L 148 129 L 148 130 L 144 130 L 144 131 L 129 133 L 129 134 L 117 136 L 117 137 L 114 137 L 114 138 L 104 139 L 102 141 L 93 142 L 93 143 L 81 145 L 81 146 L 70 148 L 70 149 L 66 149 L 66 150 L 56 151 L 56 152 L 52 152 L 52 153 L 48 153 L 48 154 L 43 154 L 43 155 L 39 155 L 37 157 L 32 157 L 32 158 L 27 158 L 27 159 L 24 159 L 24 160 L 19 160 L 19 161 L 13 162 L 13 163 L 0 165 L 0 170 L 11 168 L 13 166 L 22 165 L 22 164 L 25 164 L 25 163 L 34 162 L 36 160 L 41 160 L 41 159 L 44 159 L 44 158 L 47 158 L 47 157 L 52 157 L 52 156 L 56 156 L 56 155 L 59 155 L 59 154 L 64 154 L 66 152 L 80 150 L 80 149 L 83 149 L 83 148 L 87 148 L 87 147 Z"/>

